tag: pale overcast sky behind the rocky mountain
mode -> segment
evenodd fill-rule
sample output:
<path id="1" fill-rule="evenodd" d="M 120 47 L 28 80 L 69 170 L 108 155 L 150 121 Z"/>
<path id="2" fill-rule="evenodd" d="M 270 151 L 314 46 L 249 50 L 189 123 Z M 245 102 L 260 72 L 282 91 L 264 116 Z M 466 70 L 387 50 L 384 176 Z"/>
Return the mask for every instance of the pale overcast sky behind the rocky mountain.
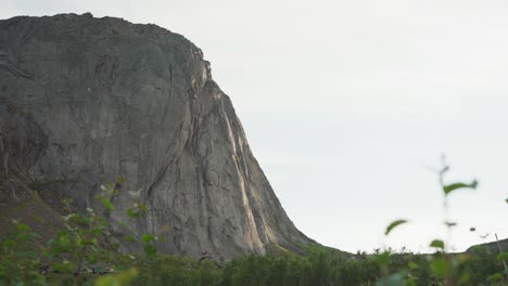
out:
<path id="1" fill-rule="evenodd" d="M 91 12 L 181 34 L 212 62 L 282 206 L 343 250 L 508 237 L 506 0 L 0 0 L 0 17 Z M 386 239 L 394 219 L 410 223 Z M 470 233 L 469 227 L 477 227 Z"/>

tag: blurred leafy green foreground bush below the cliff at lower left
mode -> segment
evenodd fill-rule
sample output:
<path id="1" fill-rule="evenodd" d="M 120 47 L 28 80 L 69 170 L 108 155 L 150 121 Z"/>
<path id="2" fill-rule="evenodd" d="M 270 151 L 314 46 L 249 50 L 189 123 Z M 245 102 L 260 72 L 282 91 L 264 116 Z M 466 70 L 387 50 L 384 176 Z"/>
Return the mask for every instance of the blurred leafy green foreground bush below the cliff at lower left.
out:
<path id="1" fill-rule="evenodd" d="M 138 275 L 136 269 L 126 266 L 138 255 L 124 256 L 118 251 L 119 243 L 111 237 L 107 217 L 115 211 L 113 198 L 118 195 L 124 179 L 101 186 L 97 199 L 102 205 L 102 214 L 87 208 L 86 212 L 74 211 L 72 200 L 64 199 L 66 214 L 62 216 L 64 227 L 56 237 L 38 247 L 34 238 L 40 238 L 26 224 L 15 221 L 14 234 L 2 242 L 0 249 L 1 285 L 90 285 L 98 276 L 98 285 L 124 285 Z M 130 193 L 130 192 L 129 192 Z M 135 197 L 132 207 L 127 209 L 129 220 L 148 211 Z M 155 237 L 144 234 L 140 239 L 144 256 L 156 253 Z M 137 242 L 134 235 L 126 236 L 126 243 Z M 113 283 L 113 284 L 112 284 Z"/>

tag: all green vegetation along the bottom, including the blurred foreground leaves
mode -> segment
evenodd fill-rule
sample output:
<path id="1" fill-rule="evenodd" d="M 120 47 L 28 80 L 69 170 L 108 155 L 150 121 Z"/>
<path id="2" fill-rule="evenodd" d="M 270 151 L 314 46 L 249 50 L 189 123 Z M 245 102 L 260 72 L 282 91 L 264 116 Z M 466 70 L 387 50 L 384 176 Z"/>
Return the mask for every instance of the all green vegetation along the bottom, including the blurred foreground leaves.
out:
<path id="1" fill-rule="evenodd" d="M 457 224 L 448 218 L 448 194 L 475 188 L 471 183 L 446 184 L 449 167 L 439 172 L 444 198 L 444 224 L 448 231 Z M 118 194 L 119 179 L 102 187 L 98 200 L 102 209 L 77 213 L 64 202 L 63 226 L 42 246 L 41 236 L 28 225 L 13 221 L 15 231 L 0 242 L 0 286 L 3 285 L 508 285 L 504 263 L 508 252 L 495 252 L 478 246 L 467 253 L 450 253 L 449 242 L 435 238 L 429 246 L 434 253 L 394 252 L 346 253 L 320 245 L 301 245 L 305 255 L 277 251 L 268 256 L 245 256 L 224 263 L 198 261 L 186 257 L 157 255 L 156 237 L 127 235 L 124 243 L 139 243 L 142 253 L 123 255 L 119 242 L 110 237 L 107 217 L 115 211 L 113 198 Z M 139 194 L 127 210 L 130 220 L 150 211 L 140 204 Z M 507 200 L 508 203 L 508 200 Z M 409 223 L 393 221 L 384 234 Z M 473 231 L 473 229 L 471 230 Z M 276 246 L 277 249 L 283 249 Z"/>

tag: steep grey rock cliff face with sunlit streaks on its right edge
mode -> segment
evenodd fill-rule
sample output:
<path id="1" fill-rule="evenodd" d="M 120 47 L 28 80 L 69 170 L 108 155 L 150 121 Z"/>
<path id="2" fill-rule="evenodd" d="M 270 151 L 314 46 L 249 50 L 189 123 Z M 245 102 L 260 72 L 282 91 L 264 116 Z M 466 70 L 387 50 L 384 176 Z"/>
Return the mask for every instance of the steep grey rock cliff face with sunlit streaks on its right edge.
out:
<path id="1" fill-rule="evenodd" d="M 230 258 L 312 242 L 282 209 L 202 51 L 155 25 L 0 21 L 0 204 L 37 191 L 51 206 L 66 196 L 94 206 L 101 183 L 122 176 L 115 231 L 156 233 L 158 251 Z M 150 212 L 125 230 L 126 191 L 138 190 Z"/>

